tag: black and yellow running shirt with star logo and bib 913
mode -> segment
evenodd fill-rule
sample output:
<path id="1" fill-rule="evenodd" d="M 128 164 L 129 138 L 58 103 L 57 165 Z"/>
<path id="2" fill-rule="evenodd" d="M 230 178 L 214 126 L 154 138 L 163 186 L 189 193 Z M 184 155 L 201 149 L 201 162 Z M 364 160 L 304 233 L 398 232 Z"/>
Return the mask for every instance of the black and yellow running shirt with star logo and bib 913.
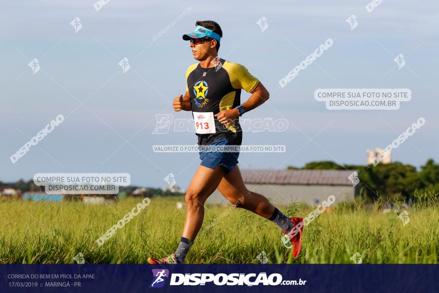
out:
<path id="1" fill-rule="evenodd" d="M 229 138 L 230 144 L 241 144 L 239 119 L 233 125 L 224 126 L 213 115 L 239 106 L 241 89 L 251 92 L 259 82 L 241 64 L 224 59 L 220 59 L 220 63 L 211 68 L 196 63 L 186 71 L 186 91 L 191 97 L 199 145 L 209 145 L 222 137 Z"/>

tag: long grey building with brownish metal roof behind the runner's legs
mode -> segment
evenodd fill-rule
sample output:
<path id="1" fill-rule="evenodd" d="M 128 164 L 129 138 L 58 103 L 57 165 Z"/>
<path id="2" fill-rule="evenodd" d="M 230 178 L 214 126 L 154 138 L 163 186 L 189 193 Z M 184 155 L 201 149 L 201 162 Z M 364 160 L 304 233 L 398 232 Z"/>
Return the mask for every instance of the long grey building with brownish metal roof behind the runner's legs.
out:
<path id="1" fill-rule="evenodd" d="M 241 170 L 249 191 L 270 198 L 274 205 L 292 202 L 312 205 L 334 195 L 336 202 L 353 201 L 358 194 L 348 177 L 356 170 Z M 230 203 L 216 190 L 207 200 L 210 204 Z"/>

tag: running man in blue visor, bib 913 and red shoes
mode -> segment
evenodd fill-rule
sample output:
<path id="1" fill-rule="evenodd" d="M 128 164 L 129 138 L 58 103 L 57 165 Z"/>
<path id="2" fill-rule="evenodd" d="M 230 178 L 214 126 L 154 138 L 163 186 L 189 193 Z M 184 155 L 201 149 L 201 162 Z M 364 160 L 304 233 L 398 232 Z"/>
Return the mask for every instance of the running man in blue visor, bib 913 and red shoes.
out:
<path id="1" fill-rule="evenodd" d="M 200 62 L 186 71 L 186 94 L 174 99 L 175 111 L 192 111 L 198 144 L 202 146 L 241 145 L 239 116 L 264 103 L 269 93 L 262 83 L 237 63 L 218 57 L 222 31 L 215 21 L 197 21 L 189 41 L 194 58 Z M 251 93 L 241 104 L 241 89 Z M 188 206 L 180 244 L 174 254 L 163 259 L 148 258 L 150 264 L 180 264 L 185 261 L 192 242 L 203 225 L 204 203 L 218 188 L 235 207 L 264 217 L 287 234 L 292 255 L 300 252 L 302 218 L 288 218 L 262 195 L 248 191 L 242 181 L 237 159 L 239 152 L 200 152 L 201 165 L 187 189 Z"/>

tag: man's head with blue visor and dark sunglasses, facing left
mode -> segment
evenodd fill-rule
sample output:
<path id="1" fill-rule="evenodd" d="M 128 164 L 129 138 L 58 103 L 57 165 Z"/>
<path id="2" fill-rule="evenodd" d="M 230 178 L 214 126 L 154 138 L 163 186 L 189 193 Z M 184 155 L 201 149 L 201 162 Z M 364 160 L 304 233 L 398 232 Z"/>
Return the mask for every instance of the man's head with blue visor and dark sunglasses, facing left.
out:
<path id="1" fill-rule="evenodd" d="M 219 24 L 212 20 L 197 21 L 192 33 L 183 35 L 184 40 L 190 40 L 189 45 L 196 60 L 205 60 L 208 56 L 217 56 L 222 30 Z"/>

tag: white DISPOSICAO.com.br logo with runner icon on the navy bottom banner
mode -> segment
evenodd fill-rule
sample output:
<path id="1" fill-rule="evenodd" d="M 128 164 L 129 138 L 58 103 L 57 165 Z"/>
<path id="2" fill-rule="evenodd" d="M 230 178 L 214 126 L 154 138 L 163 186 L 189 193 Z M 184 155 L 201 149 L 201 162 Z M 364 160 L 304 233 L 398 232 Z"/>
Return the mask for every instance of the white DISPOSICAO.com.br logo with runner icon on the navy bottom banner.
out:
<path id="1" fill-rule="evenodd" d="M 168 270 L 152 270 L 154 280 L 150 287 L 158 288 L 163 287 L 165 284 L 165 279 L 169 276 Z M 166 272 L 165 272 L 166 271 Z M 159 281 L 161 280 L 161 281 Z M 160 283 L 159 283 L 160 282 Z M 212 282 L 216 286 L 277 286 L 277 285 L 305 285 L 306 280 L 284 280 L 282 281 L 282 275 L 280 274 L 270 274 L 267 273 L 232 273 L 232 274 L 177 274 L 171 275 L 170 286 L 205 286 L 206 283 Z M 160 284 L 160 285 L 159 285 Z"/>

